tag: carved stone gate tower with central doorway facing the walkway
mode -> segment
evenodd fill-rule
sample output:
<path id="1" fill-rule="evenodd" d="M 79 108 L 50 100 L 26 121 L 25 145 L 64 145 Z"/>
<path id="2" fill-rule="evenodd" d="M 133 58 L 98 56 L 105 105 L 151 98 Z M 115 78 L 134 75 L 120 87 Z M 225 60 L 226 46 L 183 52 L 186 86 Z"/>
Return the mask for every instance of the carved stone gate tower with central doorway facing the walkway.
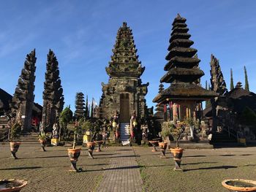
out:
<path id="1" fill-rule="evenodd" d="M 138 61 L 132 29 L 125 22 L 118 29 L 116 45 L 112 51 L 111 61 L 106 67 L 110 79 L 108 84 L 102 82 L 100 116 L 110 119 L 118 111 L 121 123 L 129 123 L 129 118 L 135 110 L 139 118 L 144 118 L 148 83 L 142 84 L 140 76 L 145 67 Z"/>

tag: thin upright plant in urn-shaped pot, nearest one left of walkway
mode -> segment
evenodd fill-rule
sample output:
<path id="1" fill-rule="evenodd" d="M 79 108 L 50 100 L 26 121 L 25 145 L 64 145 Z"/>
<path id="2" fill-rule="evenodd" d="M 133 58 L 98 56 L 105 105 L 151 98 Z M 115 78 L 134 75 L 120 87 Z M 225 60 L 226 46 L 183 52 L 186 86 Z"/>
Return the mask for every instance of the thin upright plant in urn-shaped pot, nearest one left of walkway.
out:
<path id="1" fill-rule="evenodd" d="M 79 126 L 79 124 L 76 122 L 75 123 L 75 133 L 74 133 L 72 149 L 67 149 L 69 159 L 70 159 L 70 162 L 71 162 L 71 169 L 69 171 L 75 171 L 75 172 L 80 172 L 81 171 L 81 169 L 77 169 L 77 166 L 76 166 L 77 161 L 78 161 L 78 157 L 80 156 L 80 151 L 81 151 L 81 148 L 75 148 L 78 126 Z"/>

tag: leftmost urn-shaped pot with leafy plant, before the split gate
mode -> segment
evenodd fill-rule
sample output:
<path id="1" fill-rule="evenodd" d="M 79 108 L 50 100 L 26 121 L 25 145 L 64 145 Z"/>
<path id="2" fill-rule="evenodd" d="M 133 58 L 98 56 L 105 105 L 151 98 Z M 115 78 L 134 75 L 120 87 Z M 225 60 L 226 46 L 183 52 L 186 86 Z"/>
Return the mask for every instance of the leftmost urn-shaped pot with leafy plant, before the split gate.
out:
<path id="1" fill-rule="evenodd" d="M 18 148 L 20 147 L 20 142 L 18 139 L 20 138 L 21 133 L 21 124 L 20 123 L 13 123 L 10 130 L 10 150 L 12 153 L 12 157 L 17 159 L 16 153 Z"/>

